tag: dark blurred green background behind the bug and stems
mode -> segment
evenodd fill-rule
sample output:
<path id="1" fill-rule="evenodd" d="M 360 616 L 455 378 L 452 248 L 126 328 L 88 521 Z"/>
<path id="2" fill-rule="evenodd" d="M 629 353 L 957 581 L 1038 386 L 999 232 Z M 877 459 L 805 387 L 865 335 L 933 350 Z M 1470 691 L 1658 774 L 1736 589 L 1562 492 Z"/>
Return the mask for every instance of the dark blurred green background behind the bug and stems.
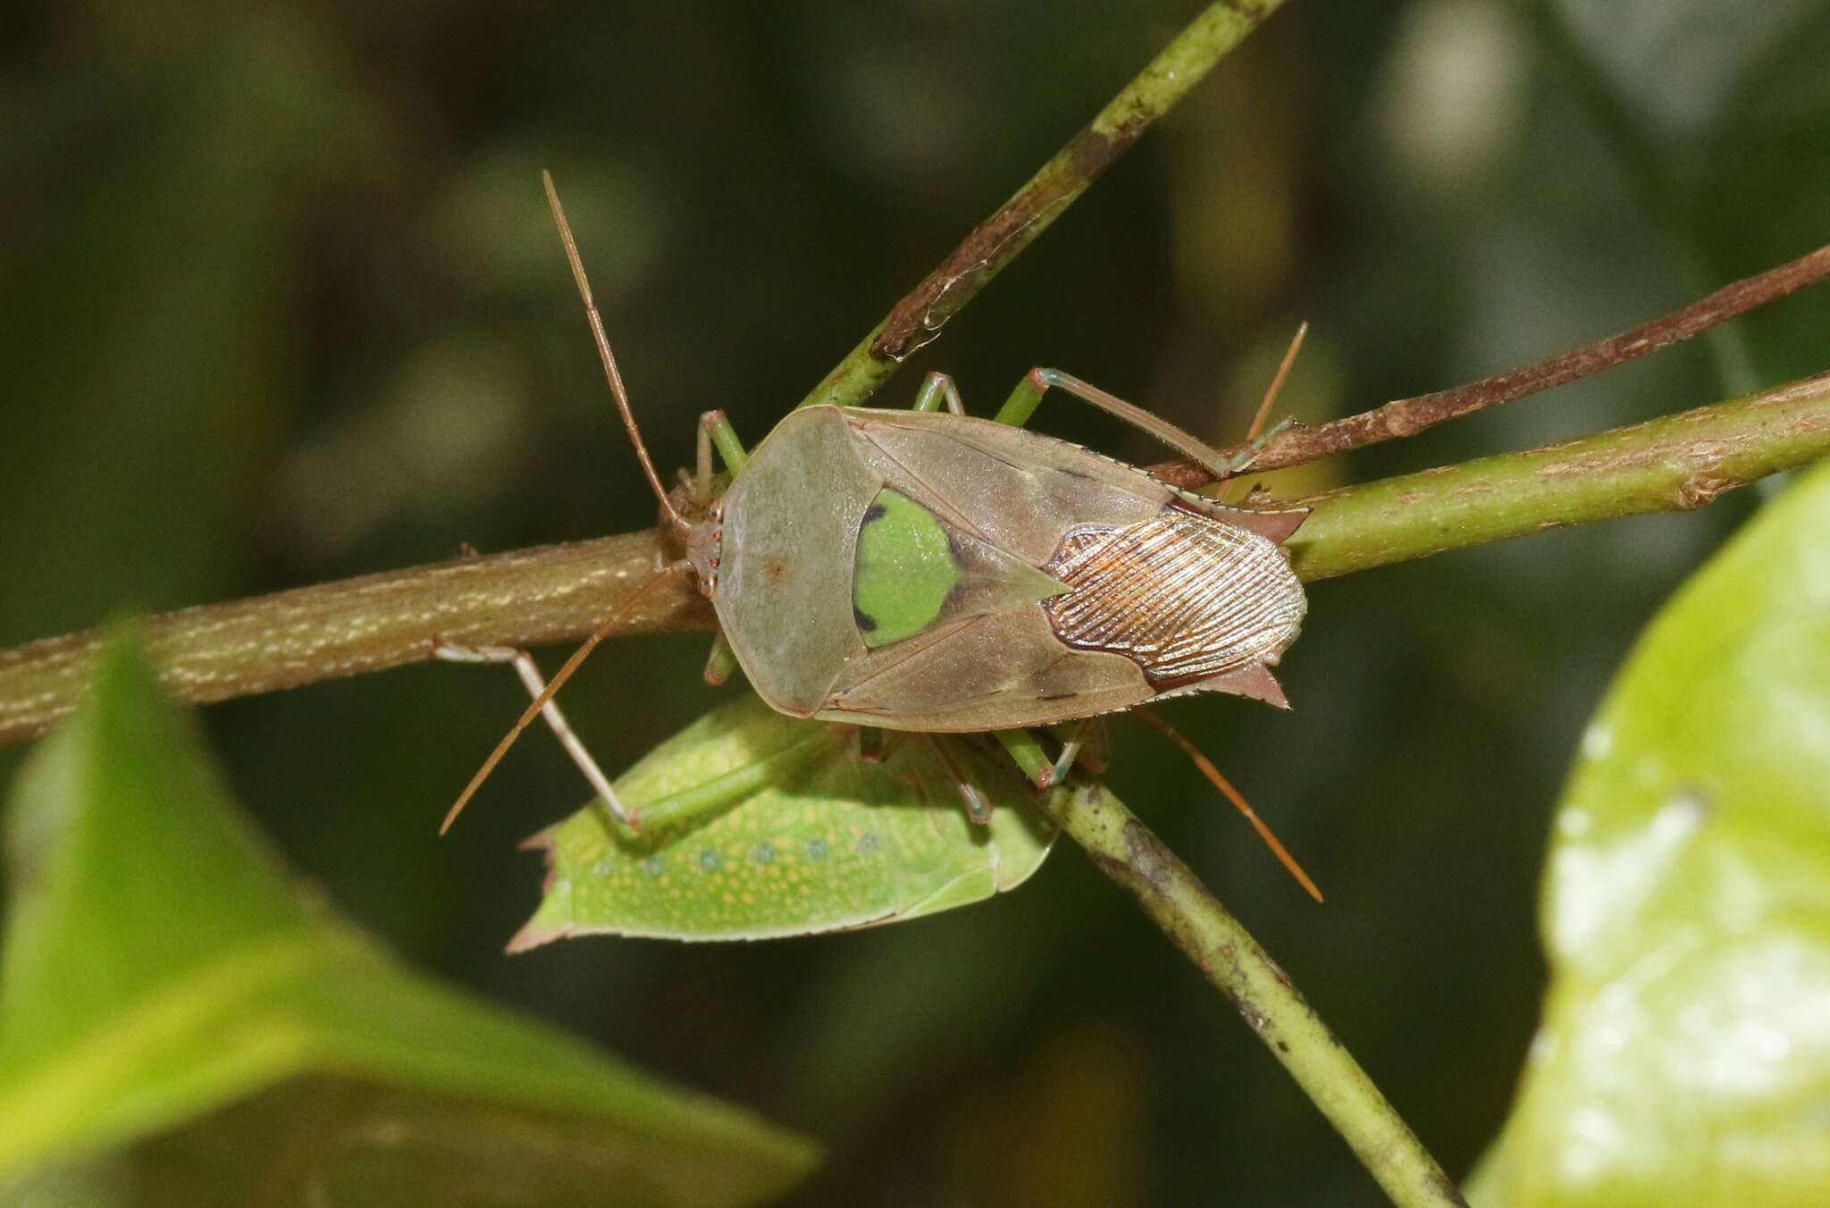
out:
<path id="1" fill-rule="evenodd" d="M 0 644 L 651 522 L 553 236 L 551 167 L 662 465 L 759 437 L 1193 13 L 1191 0 L 13 4 L 0 13 Z M 891 383 L 990 410 L 1056 364 L 1235 437 L 1556 351 L 1826 238 L 1830 4 L 1292 0 Z M 1830 362 L 1830 293 L 1557 395 L 1312 467 L 1402 472 Z M 1047 430 L 1158 452 L 1056 406 Z M 1166 716 L 1111 783 L 1460 1175 L 1537 1016 L 1534 895 L 1576 736 L 1757 503 L 1329 582 L 1296 712 Z M 565 694 L 620 769 L 723 699 L 703 635 Z M 551 666 L 551 655 L 549 655 Z M 759 946 L 507 959 L 586 796 L 525 697 L 423 666 L 203 714 L 293 866 L 415 965 L 831 1144 L 796 1204 L 1347 1204 L 1371 1181 L 1078 851 L 983 908 Z M 18 752 L 0 752 L 11 771 Z"/>

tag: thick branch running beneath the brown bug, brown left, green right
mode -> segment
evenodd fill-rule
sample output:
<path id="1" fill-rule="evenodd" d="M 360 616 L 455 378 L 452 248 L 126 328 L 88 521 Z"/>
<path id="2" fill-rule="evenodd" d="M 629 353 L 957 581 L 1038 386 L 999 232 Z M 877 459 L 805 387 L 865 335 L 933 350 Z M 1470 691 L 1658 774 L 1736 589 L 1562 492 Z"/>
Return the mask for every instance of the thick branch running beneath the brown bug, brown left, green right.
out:
<path id="1" fill-rule="evenodd" d="M 1563 445 L 1501 454 L 1316 500 L 1290 538 L 1305 580 L 1539 529 L 1682 511 L 1830 456 L 1830 375 Z M 659 534 L 542 545 L 165 613 L 146 624 L 167 686 L 221 701 L 379 672 L 458 646 L 534 646 L 591 633 L 666 566 Z M 710 630 L 673 577 L 615 633 Z M 97 630 L 0 650 L 0 743 L 75 705 Z"/>

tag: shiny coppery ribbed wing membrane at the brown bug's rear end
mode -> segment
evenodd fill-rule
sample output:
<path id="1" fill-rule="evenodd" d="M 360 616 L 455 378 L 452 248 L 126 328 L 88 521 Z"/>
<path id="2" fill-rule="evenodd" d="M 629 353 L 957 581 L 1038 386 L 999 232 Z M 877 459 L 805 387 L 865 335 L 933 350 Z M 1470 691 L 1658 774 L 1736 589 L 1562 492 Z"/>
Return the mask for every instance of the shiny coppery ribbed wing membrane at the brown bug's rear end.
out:
<path id="1" fill-rule="evenodd" d="M 1043 567 L 1056 637 L 1133 659 L 1157 692 L 1276 664 L 1307 602 L 1274 542 L 1180 503 L 1120 529 L 1069 533 Z"/>

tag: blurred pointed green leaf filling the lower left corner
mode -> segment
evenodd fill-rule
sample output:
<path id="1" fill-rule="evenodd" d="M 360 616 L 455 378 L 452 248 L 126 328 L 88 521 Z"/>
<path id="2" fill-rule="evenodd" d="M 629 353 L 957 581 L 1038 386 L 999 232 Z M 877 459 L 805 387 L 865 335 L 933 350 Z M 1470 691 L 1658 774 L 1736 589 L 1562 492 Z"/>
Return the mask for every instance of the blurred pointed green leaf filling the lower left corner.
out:
<path id="1" fill-rule="evenodd" d="M 132 642 L 22 772 L 7 858 L 0 1192 L 721 1206 L 814 1162 L 339 921 L 284 877 Z"/>

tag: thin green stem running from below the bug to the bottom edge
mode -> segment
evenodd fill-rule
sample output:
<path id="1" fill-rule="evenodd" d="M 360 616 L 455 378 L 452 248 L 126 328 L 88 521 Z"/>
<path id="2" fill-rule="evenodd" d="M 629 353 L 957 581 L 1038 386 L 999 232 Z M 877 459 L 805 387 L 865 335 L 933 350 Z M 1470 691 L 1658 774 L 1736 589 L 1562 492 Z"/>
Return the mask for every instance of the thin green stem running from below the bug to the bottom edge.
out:
<path id="1" fill-rule="evenodd" d="M 1023 769 L 1028 776 L 1043 767 L 1039 760 L 1034 763 Z M 1394 1204 L 1464 1204 L 1290 977 L 1124 802 L 1098 783 L 1076 783 L 1049 794 L 1045 809 L 1233 1001 L 1246 1027 L 1283 1062 Z"/>

